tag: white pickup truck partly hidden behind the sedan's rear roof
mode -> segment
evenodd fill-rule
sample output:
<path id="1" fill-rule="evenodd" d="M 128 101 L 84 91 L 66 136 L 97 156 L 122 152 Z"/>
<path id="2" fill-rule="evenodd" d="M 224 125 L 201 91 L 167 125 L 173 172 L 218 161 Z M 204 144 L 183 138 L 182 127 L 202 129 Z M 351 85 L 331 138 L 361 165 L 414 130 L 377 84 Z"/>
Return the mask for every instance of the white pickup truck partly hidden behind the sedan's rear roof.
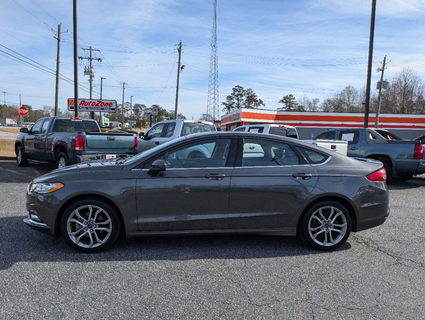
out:
<path id="1" fill-rule="evenodd" d="M 284 136 L 298 139 L 297 129 L 290 125 L 242 125 L 232 131 L 256 132 L 274 134 L 276 136 Z M 346 156 L 348 154 L 348 143 L 340 140 L 301 140 L 319 147 L 323 147 Z"/>

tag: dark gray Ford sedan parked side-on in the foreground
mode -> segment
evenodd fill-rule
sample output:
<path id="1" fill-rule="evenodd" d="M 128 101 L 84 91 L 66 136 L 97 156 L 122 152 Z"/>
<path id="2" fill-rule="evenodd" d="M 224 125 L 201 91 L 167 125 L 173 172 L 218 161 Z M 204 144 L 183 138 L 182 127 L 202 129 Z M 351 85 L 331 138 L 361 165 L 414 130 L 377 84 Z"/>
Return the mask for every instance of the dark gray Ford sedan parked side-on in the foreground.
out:
<path id="1" fill-rule="evenodd" d="M 28 226 L 97 252 L 126 237 L 301 235 L 332 250 L 384 223 L 386 173 L 296 139 L 201 133 L 125 159 L 54 170 L 28 185 Z"/>

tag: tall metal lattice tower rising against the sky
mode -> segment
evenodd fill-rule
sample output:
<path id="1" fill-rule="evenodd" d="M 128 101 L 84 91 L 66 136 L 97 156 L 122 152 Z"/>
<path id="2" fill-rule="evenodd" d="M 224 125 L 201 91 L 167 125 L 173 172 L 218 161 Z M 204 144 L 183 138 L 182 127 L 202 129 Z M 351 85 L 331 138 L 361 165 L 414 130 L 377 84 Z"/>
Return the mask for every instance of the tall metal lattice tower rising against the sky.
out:
<path id="1" fill-rule="evenodd" d="M 217 59 L 217 0 L 214 0 L 214 20 L 212 22 L 210 81 L 208 83 L 207 117 L 219 120 L 218 114 L 218 59 Z"/>

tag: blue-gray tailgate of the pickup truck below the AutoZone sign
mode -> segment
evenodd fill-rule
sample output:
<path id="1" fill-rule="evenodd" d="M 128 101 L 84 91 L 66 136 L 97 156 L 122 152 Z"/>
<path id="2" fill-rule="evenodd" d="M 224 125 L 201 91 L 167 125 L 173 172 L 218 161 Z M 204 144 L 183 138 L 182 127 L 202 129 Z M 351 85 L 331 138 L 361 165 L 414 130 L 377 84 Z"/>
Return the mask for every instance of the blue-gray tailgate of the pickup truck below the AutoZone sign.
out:
<path id="1" fill-rule="evenodd" d="M 131 133 L 86 133 L 85 153 L 133 153 Z"/>

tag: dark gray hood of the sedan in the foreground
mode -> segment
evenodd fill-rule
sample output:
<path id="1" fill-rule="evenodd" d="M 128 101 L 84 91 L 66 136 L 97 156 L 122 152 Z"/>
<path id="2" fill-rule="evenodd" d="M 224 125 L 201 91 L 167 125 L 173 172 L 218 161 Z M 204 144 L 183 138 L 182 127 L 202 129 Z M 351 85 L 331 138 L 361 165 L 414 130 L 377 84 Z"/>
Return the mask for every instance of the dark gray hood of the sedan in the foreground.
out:
<path id="1" fill-rule="evenodd" d="M 69 174 L 80 173 L 82 171 L 119 171 L 122 169 L 122 164 L 115 164 L 116 159 L 112 160 L 94 160 L 78 164 L 73 164 L 65 168 L 56 169 L 38 178 L 33 182 L 53 181 L 54 178 L 66 176 Z M 53 180 L 52 180 L 53 179 Z"/>

